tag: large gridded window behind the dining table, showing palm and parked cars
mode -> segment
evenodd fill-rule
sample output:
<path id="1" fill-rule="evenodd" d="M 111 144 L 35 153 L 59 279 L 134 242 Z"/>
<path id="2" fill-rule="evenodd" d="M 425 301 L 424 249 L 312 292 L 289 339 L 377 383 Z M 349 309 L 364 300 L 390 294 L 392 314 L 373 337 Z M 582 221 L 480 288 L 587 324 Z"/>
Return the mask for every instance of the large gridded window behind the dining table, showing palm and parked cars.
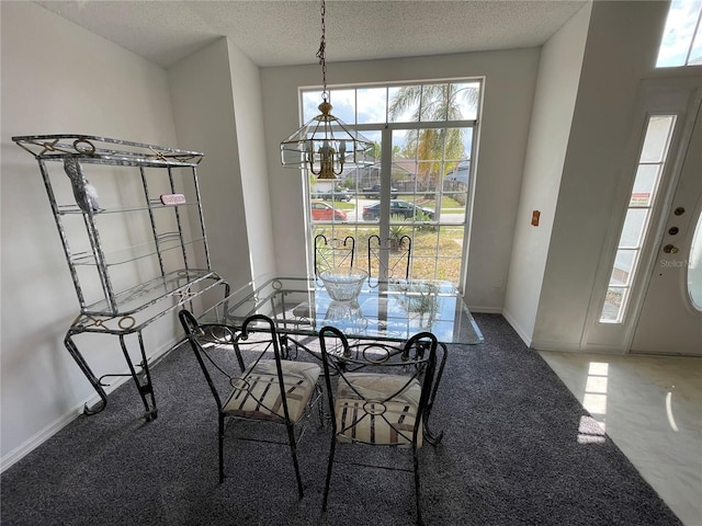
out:
<path id="1" fill-rule="evenodd" d="M 412 277 L 461 286 L 480 96 L 474 79 L 330 90 L 333 115 L 375 144 L 374 162 L 336 181 L 309 174 L 310 210 L 324 203 L 342 213 L 310 211 L 309 239 L 353 236 L 355 265 L 366 267 L 371 236 L 409 238 Z M 306 122 L 320 93 L 304 91 L 302 101 Z"/>

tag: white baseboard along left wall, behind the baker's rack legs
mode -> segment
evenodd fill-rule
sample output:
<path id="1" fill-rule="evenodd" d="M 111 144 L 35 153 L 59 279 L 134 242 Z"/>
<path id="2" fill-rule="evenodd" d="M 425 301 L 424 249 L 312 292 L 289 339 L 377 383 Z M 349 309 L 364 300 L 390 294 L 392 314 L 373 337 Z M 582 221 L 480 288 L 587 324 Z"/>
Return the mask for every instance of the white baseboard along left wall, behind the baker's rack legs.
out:
<path id="1" fill-rule="evenodd" d="M 159 359 L 165 357 L 166 354 L 168 354 L 172 348 L 174 348 L 180 342 L 182 342 L 182 339 L 173 340 L 173 343 L 169 344 L 168 346 L 161 347 L 159 351 L 157 351 L 149 357 L 149 364 L 158 362 Z M 133 381 L 132 376 L 129 375 L 129 370 L 128 368 L 126 368 L 126 366 L 122 373 L 125 374 L 126 376 L 115 377 L 114 381 L 110 384 L 109 387 L 105 388 L 105 393 L 110 395 L 112 391 L 117 389 L 124 382 Z M 30 438 L 24 441 L 22 444 L 20 444 L 18 447 L 12 449 L 11 451 L 3 455 L 2 458 L 0 458 L 0 473 L 4 472 L 5 469 L 10 468 L 18 461 L 22 460 L 22 458 L 24 458 L 26 455 L 29 455 L 34 449 L 39 447 L 42 444 L 48 441 L 52 436 L 54 436 L 56 433 L 58 433 L 68 424 L 70 424 L 78 416 L 83 414 L 83 408 L 86 405 L 92 407 L 95 403 L 98 403 L 100 400 L 101 400 L 100 395 L 98 395 L 97 392 L 93 392 L 90 397 L 88 397 L 87 399 L 73 405 L 69 411 L 67 411 L 61 416 L 56 419 L 49 425 L 47 425 L 39 432 L 35 433 L 34 435 L 32 435 Z"/>

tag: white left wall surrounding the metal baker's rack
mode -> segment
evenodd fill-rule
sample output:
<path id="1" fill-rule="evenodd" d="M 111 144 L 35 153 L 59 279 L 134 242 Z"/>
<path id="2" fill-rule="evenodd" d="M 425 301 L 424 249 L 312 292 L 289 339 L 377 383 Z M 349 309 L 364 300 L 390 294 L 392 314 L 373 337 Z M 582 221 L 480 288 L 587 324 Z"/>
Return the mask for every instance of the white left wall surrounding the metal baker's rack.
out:
<path id="1" fill-rule="evenodd" d="M 166 71 L 34 3 L 0 2 L 0 9 L 5 467 L 94 395 L 63 343 L 79 305 L 38 167 L 11 137 L 88 134 L 166 146 L 177 141 Z M 95 373 L 125 370 L 116 339 L 97 338 L 89 350 Z M 145 338 L 150 351 L 168 346 L 172 320 Z M 134 401 L 140 404 L 136 390 Z"/>

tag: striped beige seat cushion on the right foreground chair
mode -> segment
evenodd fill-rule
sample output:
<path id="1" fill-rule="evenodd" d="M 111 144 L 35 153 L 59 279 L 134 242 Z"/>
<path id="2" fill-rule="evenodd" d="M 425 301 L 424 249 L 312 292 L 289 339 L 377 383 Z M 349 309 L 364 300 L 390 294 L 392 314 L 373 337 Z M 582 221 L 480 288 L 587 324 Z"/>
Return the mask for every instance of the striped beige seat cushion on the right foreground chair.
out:
<path id="1" fill-rule="evenodd" d="M 403 388 L 407 377 L 378 375 L 372 373 L 347 373 L 339 379 L 335 412 L 337 419 L 337 442 L 362 442 L 366 444 L 410 447 L 421 387 L 416 379 L 397 396 L 381 403 Z M 359 397 L 351 389 L 353 386 Z M 417 436 L 417 447 L 421 447 L 421 427 Z"/>

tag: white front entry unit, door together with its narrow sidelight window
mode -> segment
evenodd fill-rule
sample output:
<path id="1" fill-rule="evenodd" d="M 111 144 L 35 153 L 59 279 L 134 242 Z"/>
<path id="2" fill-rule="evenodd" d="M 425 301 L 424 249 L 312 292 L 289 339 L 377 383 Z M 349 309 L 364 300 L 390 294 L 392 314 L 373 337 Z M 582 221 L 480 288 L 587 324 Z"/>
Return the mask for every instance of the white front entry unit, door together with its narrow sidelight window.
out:
<path id="1" fill-rule="evenodd" d="M 622 152 L 632 175 L 602 247 L 581 351 L 702 355 L 702 299 L 690 295 L 700 270 L 689 268 L 702 207 L 701 104 L 699 75 L 642 83 L 635 146 Z"/>

